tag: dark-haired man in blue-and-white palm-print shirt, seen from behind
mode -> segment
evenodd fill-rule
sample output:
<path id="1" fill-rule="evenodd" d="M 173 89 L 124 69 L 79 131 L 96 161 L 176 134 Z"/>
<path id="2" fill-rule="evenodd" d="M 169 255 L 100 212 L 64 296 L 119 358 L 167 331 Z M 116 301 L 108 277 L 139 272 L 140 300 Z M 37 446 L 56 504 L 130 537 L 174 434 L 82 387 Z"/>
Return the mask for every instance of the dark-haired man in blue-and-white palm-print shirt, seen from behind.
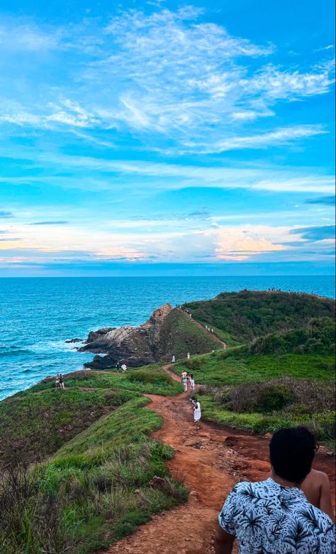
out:
<path id="1" fill-rule="evenodd" d="M 233 487 L 220 515 L 215 553 L 335 554 L 335 525 L 301 491 L 315 455 L 304 427 L 280 429 L 269 444 L 271 477 Z"/>

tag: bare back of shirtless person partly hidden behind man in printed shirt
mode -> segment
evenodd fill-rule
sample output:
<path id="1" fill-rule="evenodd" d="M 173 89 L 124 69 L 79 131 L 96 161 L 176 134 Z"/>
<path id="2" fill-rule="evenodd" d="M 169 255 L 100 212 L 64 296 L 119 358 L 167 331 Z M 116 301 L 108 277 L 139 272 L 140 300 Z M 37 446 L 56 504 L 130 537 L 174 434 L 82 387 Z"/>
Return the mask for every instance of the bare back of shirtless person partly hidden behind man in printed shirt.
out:
<path id="1" fill-rule="evenodd" d="M 303 481 L 301 491 L 304 492 L 310 504 L 324 511 L 335 523 L 335 514 L 331 503 L 330 482 L 327 474 L 312 469 Z"/>

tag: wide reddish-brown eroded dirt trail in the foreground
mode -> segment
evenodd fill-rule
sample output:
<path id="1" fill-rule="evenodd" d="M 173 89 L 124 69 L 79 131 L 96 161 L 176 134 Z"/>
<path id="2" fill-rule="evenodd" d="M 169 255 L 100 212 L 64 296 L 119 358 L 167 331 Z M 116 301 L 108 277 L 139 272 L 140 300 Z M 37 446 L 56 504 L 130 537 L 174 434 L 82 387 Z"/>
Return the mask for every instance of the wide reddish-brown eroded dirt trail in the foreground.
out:
<path id="1" fill-rule="evenodd" d="M 164 369 L 179 381 L 169 365 Z M 242 479 L 268 477 L 269 440 L 204 421 L 195 424 L 186 393 L 146 396 L 152 400 L 148 408 L 163 417 L 155 438 L 175 449 L 169 469 L 184 480 L 191 494 L 186 504 L 154 516 L 132 536 L 112 545 L 108 554 L 212 554 L 218 512 L 230 489 Z M 314 466 L 329 474 L 332 491 L 334 462 L 323 451 L 318 452 Z"/>

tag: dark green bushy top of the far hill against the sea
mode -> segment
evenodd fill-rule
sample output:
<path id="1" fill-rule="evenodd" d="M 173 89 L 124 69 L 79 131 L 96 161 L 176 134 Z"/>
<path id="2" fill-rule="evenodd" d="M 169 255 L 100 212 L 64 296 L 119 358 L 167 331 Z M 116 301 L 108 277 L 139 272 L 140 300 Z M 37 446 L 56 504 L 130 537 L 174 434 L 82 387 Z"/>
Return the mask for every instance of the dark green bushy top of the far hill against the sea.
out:
<path id="1" fill-rule="evenodd" d="M 184 307 L 195 319 L 218 328 L 237 342 L 298 329 L 312 317 L 335 317 L 335 300 L 301 293 L 242 290 Z"/>

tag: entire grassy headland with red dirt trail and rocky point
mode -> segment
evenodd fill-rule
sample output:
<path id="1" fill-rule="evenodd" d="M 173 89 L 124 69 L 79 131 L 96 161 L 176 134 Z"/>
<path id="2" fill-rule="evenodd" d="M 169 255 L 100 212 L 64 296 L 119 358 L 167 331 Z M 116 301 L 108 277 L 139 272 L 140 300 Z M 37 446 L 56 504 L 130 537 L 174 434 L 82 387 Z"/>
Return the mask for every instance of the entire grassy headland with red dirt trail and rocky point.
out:
<path id="1" fill-rule="evenodd" d="M 83 349 L 100 354 L 65 368 L 65 389 L 48 376 L 0 402 L 1 554 L 180 554 L 181 525 L 186 552 L 210 553 L 223 499 L 267 478 L 271 433 L 292 425 L 315 433 L 313 467 L 335 492 L 335 300 L 241 290 L 167 303 Z"/>

